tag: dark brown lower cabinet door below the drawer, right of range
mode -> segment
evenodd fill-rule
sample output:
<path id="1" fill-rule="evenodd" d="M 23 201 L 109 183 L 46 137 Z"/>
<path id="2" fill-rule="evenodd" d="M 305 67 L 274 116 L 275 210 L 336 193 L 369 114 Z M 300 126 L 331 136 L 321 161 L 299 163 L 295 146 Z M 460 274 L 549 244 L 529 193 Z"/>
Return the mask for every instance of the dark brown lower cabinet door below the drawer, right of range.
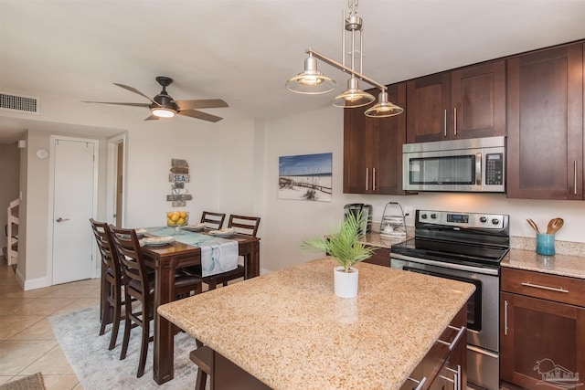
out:
<path id="1" fill-rule="evenodd" d="M 501 293 L 500 301 L 503 380 L 542 389 L 559 375 L 585 373 L 584 309 L 507 292 Z"/>

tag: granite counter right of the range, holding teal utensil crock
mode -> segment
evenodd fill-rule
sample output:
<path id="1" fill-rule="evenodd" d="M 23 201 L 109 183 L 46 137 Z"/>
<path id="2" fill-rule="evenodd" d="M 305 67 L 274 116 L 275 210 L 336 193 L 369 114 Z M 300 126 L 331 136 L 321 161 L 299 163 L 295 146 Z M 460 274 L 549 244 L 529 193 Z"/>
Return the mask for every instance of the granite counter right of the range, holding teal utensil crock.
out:
<path id="1" fill-rule="evenodd" d="M 585 257 L 560 255 L 542 256 L 534 250 L 510 249 L 502 267 L 526 269 L 571 278 L 585 279 Z"/>

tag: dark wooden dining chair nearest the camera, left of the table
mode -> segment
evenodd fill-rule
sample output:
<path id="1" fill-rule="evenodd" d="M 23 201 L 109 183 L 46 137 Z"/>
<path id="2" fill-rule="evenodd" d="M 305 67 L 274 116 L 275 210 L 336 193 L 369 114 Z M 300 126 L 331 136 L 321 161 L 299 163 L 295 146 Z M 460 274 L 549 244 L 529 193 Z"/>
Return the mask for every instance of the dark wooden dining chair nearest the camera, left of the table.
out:
<path id="1" fill-rule="evenodd" d="M 148 343 L 153 340 L 153 336 L 150 335 L 150 321 L 154 319 L 154 273 L 148 272 L 136 231 L 112 226 L 110 229 L 124 274 L 126 320 L 120 360 L 126 357 L 131 329 L 136 326 L 142 327 L 142 344 L 136 374 L 140 378 L 144 375 Z M 176 276 L 174 296 L 189 295 L 191 291 L 195 291 L 196 294 L 201 292 L 201 282 L 200 277 L 193 275 Z M 141 304 L 133 307 L 132 298 Z"/>

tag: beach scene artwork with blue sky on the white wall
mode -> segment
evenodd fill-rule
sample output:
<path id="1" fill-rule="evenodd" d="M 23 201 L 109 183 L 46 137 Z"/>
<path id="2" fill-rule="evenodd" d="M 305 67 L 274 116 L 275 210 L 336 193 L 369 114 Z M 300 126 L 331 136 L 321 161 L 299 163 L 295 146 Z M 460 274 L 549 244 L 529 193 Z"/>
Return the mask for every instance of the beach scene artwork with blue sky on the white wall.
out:
<path id="1" fill-rule="evenodd" d="M 279 199 L 331 202 L 332 154 L 279 157 Z"/>

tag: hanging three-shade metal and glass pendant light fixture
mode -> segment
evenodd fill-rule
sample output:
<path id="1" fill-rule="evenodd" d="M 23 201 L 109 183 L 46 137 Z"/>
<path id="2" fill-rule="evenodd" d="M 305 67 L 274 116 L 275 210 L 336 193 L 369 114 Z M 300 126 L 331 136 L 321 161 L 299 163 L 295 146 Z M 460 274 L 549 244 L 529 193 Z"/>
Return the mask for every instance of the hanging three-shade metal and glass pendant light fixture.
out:
<path id="1" fill-rule="evenodd" d="M 368 84 L 377 87 L 380 90 L 378 97 L 378 104 L 372 106 L 366 111 L 368 117 L 373 118 L 385 118 L 394 115 L 398 115 L 403 110 L 388 101 L 388 88 L 373 79 L 369 79 L 364 76 L 362 71 L 363 62 L 363 30 L 364 23 L 360 16 L 357 15 L 357 1 L 349 0 L 349 16 L 346 17 L 346 10 L 344 10 L 343 21 L 343 41 L 342 41 L 342 63 L 335 61 L 334 59 L 327 58 L 323 54 L 314 51 L 311 48 L 305 50 L 309 55 L 304 60 L 304 71 L 294 76 L 293 78 L 286 81 L 285 85 L 288 90 L 303 94 L 320 94 L 325 93 L 335 88 L 335 80 L 324 76 L 321 72 L 317 71 L 317 59 L 324 61 L 326 64 L 333 66 L 336 69 L 340 69 L 350 74 L 350 78 L 347 80 L 347 90 L 337 95 L 333 100 L 335 107 L 342 108 L 356 108 L 366 106 L 372 103 L 376 98 L 364 90 L 360 90 L 358 86 L 358 80 L 364 80 Z M 350 47 L 346 47 L 346 35 L 350 36 Z M 356 48 L 357 41 L 357 48 Z M 349 53 L 351 56 L 351 66 L 346 66 L 346 54 Z M 359 59 L 359 69 L 356 70 L 356 58 Z"/>

